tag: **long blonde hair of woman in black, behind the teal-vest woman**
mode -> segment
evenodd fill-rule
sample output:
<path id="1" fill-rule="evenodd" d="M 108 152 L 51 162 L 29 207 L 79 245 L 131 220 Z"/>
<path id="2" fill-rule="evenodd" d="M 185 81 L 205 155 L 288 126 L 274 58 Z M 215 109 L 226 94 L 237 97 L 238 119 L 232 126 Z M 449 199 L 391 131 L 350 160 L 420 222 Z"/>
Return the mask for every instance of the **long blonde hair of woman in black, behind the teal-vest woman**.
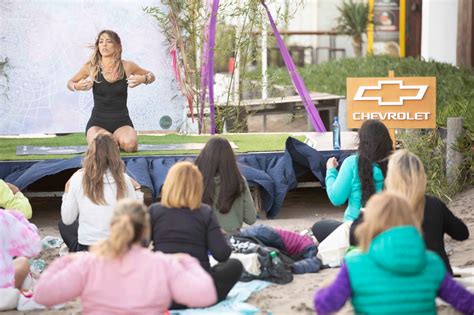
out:
<path id="1" fill-rule="evenodd" d="M 425 210 L 426 173 L 415 154 L 398 150 L 390 156 L 385 188 L 405 196 L 421 224 Z"/>

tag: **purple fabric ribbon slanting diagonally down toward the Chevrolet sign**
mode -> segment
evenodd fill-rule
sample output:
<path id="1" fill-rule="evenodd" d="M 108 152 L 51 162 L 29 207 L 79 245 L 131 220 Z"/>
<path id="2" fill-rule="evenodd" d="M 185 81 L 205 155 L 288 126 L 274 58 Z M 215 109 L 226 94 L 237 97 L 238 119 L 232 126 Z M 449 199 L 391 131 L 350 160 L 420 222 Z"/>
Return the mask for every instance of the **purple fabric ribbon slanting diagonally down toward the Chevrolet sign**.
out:
<path id="1" fill-rule="evenodd" d="M 273 34 L 275 34 L 275 38 L 278 43 L 278 47 L 280 48 L 280 53 L 283 57 L 283 61 L 285 62 L 286 68 L 288 69 L 288 73 L 290 74 L 291 81 L 293 82 L 293 86 L 295 87 L 298 95 L 301 97 L 303 101 L 304 107 L 306 108 L 306 112 L 309 115 L 311 124 L 314 127 L 314 130 L 317 132 L 325 132 L 326 127 L 324 126 L 321 117 L 319 116 L 319 112 L 316 110 L 316 106 L 314 106 L 313 100 L 309 96 L 308 89 L 304 85 L 303 79 L 301 79 L 298 71 L 296 70 L 295 64 L 293 63 L 293 59 L 291 59 L 290 53 L 281 38 L 280 33 L 273 21 L 272 15 L 270 14 L 270 10 L 268 9 L 267 5 L 264 1 L 262 1 L 262 5 L 265 7 L 265 10 L 268 14 L 268 19 L 270 20 L 270 24 L 273 29 Z M 210 94 L 210 93 L 209 93 Z"/>

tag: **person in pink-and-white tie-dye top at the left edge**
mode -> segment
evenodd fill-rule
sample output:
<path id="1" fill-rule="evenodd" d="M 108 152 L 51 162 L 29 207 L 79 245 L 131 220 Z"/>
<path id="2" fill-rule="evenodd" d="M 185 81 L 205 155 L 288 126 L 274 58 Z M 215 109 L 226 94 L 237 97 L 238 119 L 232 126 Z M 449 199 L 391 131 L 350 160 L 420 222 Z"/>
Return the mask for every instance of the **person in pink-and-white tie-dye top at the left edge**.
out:
<path id="1" fill-rule="evenodd" d="M 17 211 L 0 209 L 0 288 L 20 289 L 30 272 L 26 257 L 40 251 L 36 226 Z"/>

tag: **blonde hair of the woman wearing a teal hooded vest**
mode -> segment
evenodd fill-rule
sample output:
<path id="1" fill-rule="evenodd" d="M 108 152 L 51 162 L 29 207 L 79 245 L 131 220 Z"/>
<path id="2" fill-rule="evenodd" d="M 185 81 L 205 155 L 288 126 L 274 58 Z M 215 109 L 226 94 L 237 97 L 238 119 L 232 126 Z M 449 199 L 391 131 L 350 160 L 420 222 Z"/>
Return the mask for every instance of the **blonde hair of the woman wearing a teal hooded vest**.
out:
<path id="1" fill-rule="evenodd" d="M 373 195 L 367 202 L 364 221 L 356 227 L 355 236 L 360 248 L 367 251 L 377 235 L 401 225 L 413 225 L 419 229 L 408 201 L 402 195 L 383 192 Z"/>

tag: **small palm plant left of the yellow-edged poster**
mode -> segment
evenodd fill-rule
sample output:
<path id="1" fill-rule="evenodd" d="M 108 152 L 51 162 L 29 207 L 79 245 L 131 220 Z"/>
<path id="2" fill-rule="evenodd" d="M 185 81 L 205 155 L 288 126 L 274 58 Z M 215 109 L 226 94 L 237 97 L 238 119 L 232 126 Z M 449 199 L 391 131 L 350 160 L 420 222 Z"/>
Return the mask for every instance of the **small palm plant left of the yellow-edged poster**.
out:
<path id="1" fill-rule="evenodd" d="M 367 33 L 369 25 L 369 4 L 344 0 L 338 6 L 340 16 L 337 18 L 336 30 L 341 34 L 352 36 L 352 47 L 356 57 L 362 56 L 363 35 Z"/>

